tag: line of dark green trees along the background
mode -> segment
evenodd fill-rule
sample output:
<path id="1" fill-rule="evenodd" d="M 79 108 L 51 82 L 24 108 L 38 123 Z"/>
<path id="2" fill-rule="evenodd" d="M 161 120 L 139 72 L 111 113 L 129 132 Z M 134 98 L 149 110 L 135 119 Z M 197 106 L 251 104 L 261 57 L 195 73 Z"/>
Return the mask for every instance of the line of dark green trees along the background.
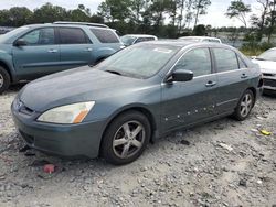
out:
<path id="1" fill-rule="evenodd" d="M 270 41 L 275 31 L 276 0 L 255 1 L 259 4 L 258 15 L 251 15 L 252 8 L 243 0 L 232 0 L 224 11 L 225 15 L 238 19 L 244 25 L 238 31 L 245 31 L 252 39 L 259 41 L 266 35 Z M 106 23 L 121 34 L 149 33 L 160 37 L 205 35 L 209 32 L 223 30 L 199 24 L 199 18 L 208 13 L 211 3 L 212 0 L 103 0 L 96 13 L 92 13 L 84 4 L 67 10 L 45 3 L 33 11 L 25 7 L 0 10 L 0 25 L 17 28 L 31 23 L 78 21 Z M 225 30 L 233 32 L 237 29 L 226 28 Z"/>

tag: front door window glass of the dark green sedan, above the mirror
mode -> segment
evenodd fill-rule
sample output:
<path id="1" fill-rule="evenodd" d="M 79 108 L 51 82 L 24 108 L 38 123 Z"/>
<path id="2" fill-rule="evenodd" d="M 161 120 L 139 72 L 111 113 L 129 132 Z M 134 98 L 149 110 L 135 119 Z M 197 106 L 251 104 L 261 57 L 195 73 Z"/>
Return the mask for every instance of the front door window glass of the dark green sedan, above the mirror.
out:
<path id="1" fill-rule="evenodd" d="M 211 74 L 212 64 L 208 48 L 195 48 L 188 52 L 176 65 L 176 68 L 182 68 L 193 72 L 193 76 L 203 76 Z"/>

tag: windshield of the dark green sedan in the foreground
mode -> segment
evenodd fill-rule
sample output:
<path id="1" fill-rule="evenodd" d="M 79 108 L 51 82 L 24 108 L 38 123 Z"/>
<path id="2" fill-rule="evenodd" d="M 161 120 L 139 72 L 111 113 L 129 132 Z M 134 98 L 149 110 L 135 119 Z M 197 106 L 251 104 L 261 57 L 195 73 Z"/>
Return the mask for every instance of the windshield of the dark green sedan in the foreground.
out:
<path id="1" fill-rule="evenodd" d="M 180 50 L 178 46 L 140 44 L 124 48 L 96 66 L 117 75 L 149 78 Z"/>

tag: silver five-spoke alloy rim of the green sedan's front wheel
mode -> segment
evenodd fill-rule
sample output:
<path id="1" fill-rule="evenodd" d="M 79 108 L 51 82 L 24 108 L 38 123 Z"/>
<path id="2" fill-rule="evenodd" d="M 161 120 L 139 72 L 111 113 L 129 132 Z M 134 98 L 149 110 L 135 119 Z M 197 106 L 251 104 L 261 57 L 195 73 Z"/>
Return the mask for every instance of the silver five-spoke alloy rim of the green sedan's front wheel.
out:
<path id="1" fill-rule="evenodd" d="M 142 148 L 145 137 L 146 130 L 140 122 L 128 121 L 124 123 L 114 135 L 114 153 L 120 159 L 134 156 Z"/>

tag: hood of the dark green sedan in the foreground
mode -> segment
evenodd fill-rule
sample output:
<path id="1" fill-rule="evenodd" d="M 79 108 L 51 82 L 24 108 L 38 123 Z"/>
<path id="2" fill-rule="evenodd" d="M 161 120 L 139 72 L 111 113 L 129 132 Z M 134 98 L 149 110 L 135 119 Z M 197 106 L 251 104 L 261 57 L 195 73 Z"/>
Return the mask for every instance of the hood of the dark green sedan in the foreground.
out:
<path id="1" fill-rule="evenodd" d="M 113 97 L 142 83 L 86 66 L 36 79 L 20 91 L 19 99 L 28 108 L 43 112 L 57 106 Z"/>

